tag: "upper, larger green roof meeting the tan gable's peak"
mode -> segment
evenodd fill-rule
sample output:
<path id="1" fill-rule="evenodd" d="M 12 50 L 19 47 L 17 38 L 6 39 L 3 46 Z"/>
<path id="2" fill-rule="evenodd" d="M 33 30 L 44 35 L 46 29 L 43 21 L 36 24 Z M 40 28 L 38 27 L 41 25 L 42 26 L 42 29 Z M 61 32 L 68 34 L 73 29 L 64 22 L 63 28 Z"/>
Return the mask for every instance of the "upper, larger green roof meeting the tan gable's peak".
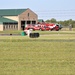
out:
<path id="1" fill-rule="evenodd" d="M 27 9 L 0 9 L 0 16 L 17 16 Z"/>

